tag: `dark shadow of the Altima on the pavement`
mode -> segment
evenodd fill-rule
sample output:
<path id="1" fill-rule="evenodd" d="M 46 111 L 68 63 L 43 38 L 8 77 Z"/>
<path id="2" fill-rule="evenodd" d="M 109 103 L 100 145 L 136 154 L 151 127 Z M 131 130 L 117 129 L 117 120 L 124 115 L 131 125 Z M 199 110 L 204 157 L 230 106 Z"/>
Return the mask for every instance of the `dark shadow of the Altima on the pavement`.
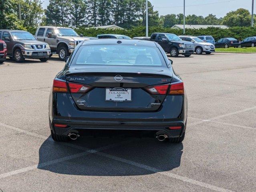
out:
<path id="1" fill-rule="evenodd" d="M 79 138 L 69 143 L 80 148 L 95 150 L 107 147 L 99 150 L 100 154 L 89 153 L 62 161 L 61 158 L 73 157 L 85 150 L 53 142 L 51 138 L 48 138 L 39 149 L 38 169 L 59 174 L 84 176 L 146 175 L 153 173 L 150 170 L 169 171 L 179 167 L 183 153 L 182 143 L 159 142 L 154 138 L 91 137 Z M 59 162 L 59 160 L 61 161 Z M 46 162 L 54 163 L 48 165 Z M 134 163 L 140 166 L 134 166 Z M 141 168 L 141 166 L 146 168 Z"/>

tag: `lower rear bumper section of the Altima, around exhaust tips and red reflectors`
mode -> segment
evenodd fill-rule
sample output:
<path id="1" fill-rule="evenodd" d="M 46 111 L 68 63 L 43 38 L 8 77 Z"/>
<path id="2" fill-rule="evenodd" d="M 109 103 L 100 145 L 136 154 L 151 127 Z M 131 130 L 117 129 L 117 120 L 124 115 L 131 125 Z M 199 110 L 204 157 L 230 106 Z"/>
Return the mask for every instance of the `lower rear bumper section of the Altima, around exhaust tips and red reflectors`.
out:
<path id="1" fill-rule="evenodd" d="M 67 128 L 60 128 L 54 126 L 54 124 L 65 124 Z M 171 126 L 180 126 L 181 128 L 171 130 Z M 92 130 L 99 133 L 112 130 L 128 132 L 128 133 L 140 133 L 141 136 L 156 137 L 159 134 L 166 134 L 168 138 L 181 137 L 185 132 L 185 122 L 172 121 L 172 122 L 101 122 L 101 121 L 77 121 L 77 120 L 65 120 L 65 119 L 53 119 L 50 123 L 50 127 L 55 134 L 67 136 L 69 133 L 78 133 L 80 136 L 85 136 L 81 133 L 90 132 Z"/>

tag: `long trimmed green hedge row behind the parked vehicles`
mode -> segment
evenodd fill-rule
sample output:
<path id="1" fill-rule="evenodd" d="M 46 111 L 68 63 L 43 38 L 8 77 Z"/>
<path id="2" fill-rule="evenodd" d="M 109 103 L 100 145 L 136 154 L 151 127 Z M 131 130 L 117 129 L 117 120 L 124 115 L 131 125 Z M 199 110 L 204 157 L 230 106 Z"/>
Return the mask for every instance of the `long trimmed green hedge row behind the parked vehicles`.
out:
<path id="1" fill-rule="evenodd" d="M 28 28 L 27 30 L 32 34 L 35 34 L 36 32 L 36 28 Z M 133 27 L 131 29 L 127 29 L 127 30 L 111 30 L 111 29 L 101 29 L 101 28 L 98 28 L 98 29 L 76 28 L 75 31 L 78 34 L 83 34 L 84 36 L 91 36 L 91 37 L 96 37 L 97 34 L 123 34 L 133 38 L 136 36 L 145 36 L 146 29 L 144 26 L 138 26 L 138 27 Z M 149 27 L 149 36 L 153 32 L 174 33 L 176 35 L 183 34 L 183 30 L 163 28 L 163 27 L 157 27 L 157 26 Z M 233 37 L 238 40 L 243 40 L 246 37 L 256 36 L 256 27 L 232 27 L 228 29 L 209 27 L 206 29 L 203 29 L 203 28 L 187 29 L 185 31 L 185 34 L 193 35 L 193 36 L 211 35 L 214 37 L 215 40 L 219 40 L 220 38 L 224 38 L 224 37 Z"/>

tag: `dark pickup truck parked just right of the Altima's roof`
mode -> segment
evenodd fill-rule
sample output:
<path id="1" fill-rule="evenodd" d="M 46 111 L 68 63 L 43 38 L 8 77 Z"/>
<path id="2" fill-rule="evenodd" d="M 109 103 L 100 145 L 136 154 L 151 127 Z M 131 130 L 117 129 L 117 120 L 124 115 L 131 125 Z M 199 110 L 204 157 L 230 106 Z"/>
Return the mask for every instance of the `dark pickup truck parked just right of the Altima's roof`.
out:
<path id="1" fill-rule="evenodd" d="M 192 42 L 183 41 L 171 33 L 153 33 L 150 40 L 157 42 L 171 57 L 177 57 L 179 54 L 189 57 L 195 51 Z"/>

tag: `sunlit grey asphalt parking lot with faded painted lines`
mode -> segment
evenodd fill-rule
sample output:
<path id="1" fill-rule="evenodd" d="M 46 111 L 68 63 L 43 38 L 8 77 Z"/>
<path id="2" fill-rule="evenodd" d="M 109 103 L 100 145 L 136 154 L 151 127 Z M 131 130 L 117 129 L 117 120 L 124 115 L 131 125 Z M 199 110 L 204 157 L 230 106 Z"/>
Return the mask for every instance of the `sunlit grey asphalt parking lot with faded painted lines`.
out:
<path id="1" fill-rule="evenodd" d="M 48 96 L 65 63 L 0 65 L 2 192 L 255 192 L 256 54 L 172 59 L 188 96 L 182 144 L 152 138 L 53 142 Z"/>

